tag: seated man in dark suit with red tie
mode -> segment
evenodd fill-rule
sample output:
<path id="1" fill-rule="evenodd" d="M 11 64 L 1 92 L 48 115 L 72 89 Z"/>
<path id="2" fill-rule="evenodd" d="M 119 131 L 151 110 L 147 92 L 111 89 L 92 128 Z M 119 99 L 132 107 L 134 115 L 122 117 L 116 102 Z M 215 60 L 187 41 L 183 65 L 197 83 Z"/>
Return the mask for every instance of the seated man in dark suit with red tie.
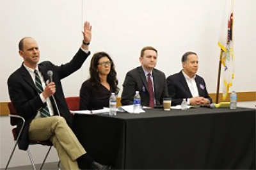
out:
<path id="1" fill-rule="evenodd" d="M 144 47 L 141 50 L 141 66 L 126 74 L 121 97 L 122 105 L 133 104 L 135 91 L 140 92 L 143 106 L 156 107 L 163 104 L 163 98 L 168 97 L 166 77 L 163 72 L 154 68 L 156 61 L 156 49 Z"/>

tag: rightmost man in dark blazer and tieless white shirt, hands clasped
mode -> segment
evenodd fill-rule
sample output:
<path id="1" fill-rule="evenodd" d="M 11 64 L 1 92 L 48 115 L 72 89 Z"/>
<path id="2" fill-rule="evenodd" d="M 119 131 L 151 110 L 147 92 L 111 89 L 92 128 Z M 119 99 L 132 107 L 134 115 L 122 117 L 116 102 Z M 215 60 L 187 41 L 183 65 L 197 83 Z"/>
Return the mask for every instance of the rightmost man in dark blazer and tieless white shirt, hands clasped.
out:
<path id="1" fill-rule="evenodd" d="M 181 104 L 183 98 L 186 98 L 188 105 L 211 104 L 212 99 L 208 95 L 204 79 L 196 75 L 198 70 L 197 54 L 186 52 L 181 61 L 183 70 L 167 78 L 168 93 L 172 98 L 172 105 Z"/>

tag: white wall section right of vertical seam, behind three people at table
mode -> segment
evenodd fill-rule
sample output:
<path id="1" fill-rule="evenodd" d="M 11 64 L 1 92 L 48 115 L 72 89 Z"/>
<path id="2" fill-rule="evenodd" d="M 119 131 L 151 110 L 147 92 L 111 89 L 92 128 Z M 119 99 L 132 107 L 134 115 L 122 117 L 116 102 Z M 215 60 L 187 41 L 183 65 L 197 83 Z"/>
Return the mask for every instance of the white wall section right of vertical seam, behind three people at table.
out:
<path id="1" fill-rule="evenodd" d="M 83 16 L 93 23 L 93 51 L 106 50 L 113 57 L 120 78 L 139 65 L 140 50 L 152 45 L 159 50 L 157 68 L 166 76 L 179 72 L 187 50 L 198 53 L 199 70 L 210 93 L 216 93 L 220 48 L 217 45 L 226 2 L 223 0 L 94 0 L 84 3 Z M 236 1 L 234 51 L 236 91 L 255 91 L 255 0 Z M 97 12 L 95 15 L 92 15 Z M 84 66 L 84 77 L 88 65 Z"/>

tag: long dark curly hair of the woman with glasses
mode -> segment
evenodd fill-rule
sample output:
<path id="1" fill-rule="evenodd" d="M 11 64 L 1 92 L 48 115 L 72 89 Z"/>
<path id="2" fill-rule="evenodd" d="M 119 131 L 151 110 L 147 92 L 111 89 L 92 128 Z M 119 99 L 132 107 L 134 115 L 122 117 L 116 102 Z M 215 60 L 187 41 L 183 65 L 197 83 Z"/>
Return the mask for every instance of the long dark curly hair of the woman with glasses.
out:
<path id="1" fill-rule="evenodd" d="M 110 72 L 107 77 L 107 82 L 109 83 L 110 87 L 113 88 L 113 92 L 115 92 L 117 95 L 119 88 L 117 86 L 118 81 L 116 79 L 115 64 L 106 52 L 97 52 L 97 53 L 93 54 L 92 59 L 91 59 L 91 65 L 90 65 L 90 79 L 89 80 L 92 82 L 92 86 L 95 86 L 95 88 L 98 88 L 100 90 L 100 77 L 99 77 L 99 72 L 98 72 L 98 65 L 99 65 L 99 59 L 104 58 L 104 57 L 107 57 L 109 59 L 109 61 L 111 61 Z"/>

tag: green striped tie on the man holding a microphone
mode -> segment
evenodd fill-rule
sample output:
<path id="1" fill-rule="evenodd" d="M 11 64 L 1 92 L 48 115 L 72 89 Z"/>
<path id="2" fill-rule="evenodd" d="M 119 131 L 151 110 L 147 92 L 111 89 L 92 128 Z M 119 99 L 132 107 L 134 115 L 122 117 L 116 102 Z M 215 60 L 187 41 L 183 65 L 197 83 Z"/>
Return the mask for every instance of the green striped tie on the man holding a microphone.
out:
<path id="1" fill-rule="evenodd" d="M 40 80 L 40 77 L 38 75 L 37 70 L 35 70 L 34 73 L 36 75 L 36 77 L 35 77 L 36 78 L 35 79 L 35 81 L 36 81 L 36 91 L 37 91 L 38 94 L 41 94 L 43 92 L 42 82 Z M 41 114 L 42 118 L 51 116 L 50 112 L 49 112 L 49 108 L 47 107 L 46 103 L 45 103 L 45 106 L 42 107 L 39 111 L 40 111 L 40 114 Z"/>

